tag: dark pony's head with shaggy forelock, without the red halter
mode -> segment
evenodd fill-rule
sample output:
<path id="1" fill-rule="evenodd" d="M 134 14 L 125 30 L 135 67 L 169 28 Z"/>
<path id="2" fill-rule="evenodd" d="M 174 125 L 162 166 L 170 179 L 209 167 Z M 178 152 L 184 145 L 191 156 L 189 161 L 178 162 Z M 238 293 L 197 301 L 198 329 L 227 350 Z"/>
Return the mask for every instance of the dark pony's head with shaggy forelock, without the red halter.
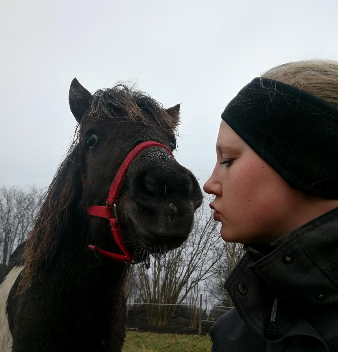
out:
<path id="1" fill-rule="evenodd" d="M 176 148 L 179 105 L 165 110 L 148 95 L 122 85 L 92 96 L 76 79 L 70 86 L 69 103 L 80 124 L 84 210 L 106 204 L 119 166 L 136 145 L 156 141 L 172 151 Z M 183 243 L 201 199 L 193 174 L 167 151 L 149 147 L 139 153 L 119 194 L 121 231 L 131 253 L 144 256 Z M 99 243 L 102 236 L 112 241 L 108 225 L 104 219 L 90 219 L 90 232 Z"/>

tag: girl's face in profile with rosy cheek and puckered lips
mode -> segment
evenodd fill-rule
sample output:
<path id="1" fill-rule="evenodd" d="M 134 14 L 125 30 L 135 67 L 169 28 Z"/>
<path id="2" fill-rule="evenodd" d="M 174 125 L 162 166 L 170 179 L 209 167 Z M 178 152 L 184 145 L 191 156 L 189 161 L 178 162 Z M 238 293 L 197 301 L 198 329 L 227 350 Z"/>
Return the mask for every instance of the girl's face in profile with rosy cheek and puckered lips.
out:
<path id="1" fill-rule="evenodd" d="M 306 195 L 259 157 L 221 121 L 217 163 L 205 192 L 215 195 L 210 207 L 227 242 L 271 243 L 305 223 Z"/>

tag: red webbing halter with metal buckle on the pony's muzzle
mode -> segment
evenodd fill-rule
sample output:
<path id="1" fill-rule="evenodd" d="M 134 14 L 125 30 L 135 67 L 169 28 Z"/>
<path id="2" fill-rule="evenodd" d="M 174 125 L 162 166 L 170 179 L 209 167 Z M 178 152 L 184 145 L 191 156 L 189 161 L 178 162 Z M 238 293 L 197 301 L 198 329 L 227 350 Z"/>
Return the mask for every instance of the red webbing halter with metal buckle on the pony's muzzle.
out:
<path id="1" fill-rule="evenodd" d="M 108 194 L 108 199 L 106 202 L 106 206 L 99 206 L 99 205 L 94 205 L 92 207 L 88 207 L 88 214 L 92 216 L 99 216 L 101 218 L 105 218 L 109 220 L 110 227 L 111 227 L 111 232 L 114 236 L 115 242 L 118 244 L 120 247 L 121 251 L 124 253 L 123 254 L 117 254 L 117 253 L 111 253 L 104 251 L 101 248 L 98 248 L 93 245 L 89 245 L 89 249 L 92 249 L 108 258 L 118 260 L 119 262 L 126 262 L 126 263 L 132 263 L 132 257 L 129 253 L 129 251 L 126 249 L 126 246 L 123 242 L 123 238 L 121 235 L 121 229 L 120 229 L 120 222 L 118 219 L 118 214 L 117 214 L 117 202 L 118 202 L 118 195 L 120 193 L 121 185 L 122 185 L 122 180 L 124 175 L 126 174 L 129 165 L 131 162 L 136 158 L 138 153 L 140 153 L 142 150 L 145 148 L 149 147 L 162 147 L 165 150 L 169 152 L 169 154 L 174 158 L 173 153 L 171 150 L 169 150 L 166 146 L 163 144 L 151 141 L 151 142 L 143 142 L 137 145 L 132 151 L 127 155 L 127 157 L 124 159 L 124 162 L 120 166 L 119 170 L 117 171 L 117 174 L 112 182 L 112 186 L 109 190 Z M 112 206 L 114 209 L 114 215 L 115 218 L 112 216 Z"/>

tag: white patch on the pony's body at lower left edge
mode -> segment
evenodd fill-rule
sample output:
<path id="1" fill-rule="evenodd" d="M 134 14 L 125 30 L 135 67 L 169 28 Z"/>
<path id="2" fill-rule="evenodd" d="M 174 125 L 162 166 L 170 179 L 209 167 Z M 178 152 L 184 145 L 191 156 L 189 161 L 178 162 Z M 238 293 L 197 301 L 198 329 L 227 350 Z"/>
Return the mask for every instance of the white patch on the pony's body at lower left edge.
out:
<path id="1" fill-rule="evenodd" d="M 23 266 L 15 266 L 0 285 L 0 351 L 12 351 L 12 335 L 6 314 L 7 298 Z"/>

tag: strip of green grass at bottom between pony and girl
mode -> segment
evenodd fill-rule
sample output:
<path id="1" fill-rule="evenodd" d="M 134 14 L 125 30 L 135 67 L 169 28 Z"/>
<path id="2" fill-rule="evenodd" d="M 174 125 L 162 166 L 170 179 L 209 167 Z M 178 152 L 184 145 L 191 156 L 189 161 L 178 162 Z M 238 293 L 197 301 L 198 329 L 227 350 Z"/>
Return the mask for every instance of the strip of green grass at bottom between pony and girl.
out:
<path id="1" fill-rule="evenodd" d="M 209 336 L 127 331 L 122 352 L 210 352 Z"/>

